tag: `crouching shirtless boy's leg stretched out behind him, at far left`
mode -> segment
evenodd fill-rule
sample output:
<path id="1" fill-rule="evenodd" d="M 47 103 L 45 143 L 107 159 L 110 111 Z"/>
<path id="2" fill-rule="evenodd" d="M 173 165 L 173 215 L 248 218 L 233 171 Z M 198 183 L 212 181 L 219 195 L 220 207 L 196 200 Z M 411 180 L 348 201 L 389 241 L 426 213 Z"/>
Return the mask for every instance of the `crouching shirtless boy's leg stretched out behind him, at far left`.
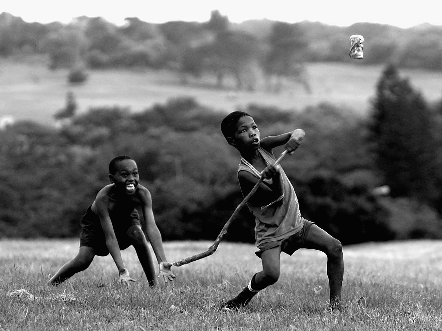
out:
<path id="1" fill-rule="evenodd" d="M 55 275 L 51 277 L 48 284 L 58 285 L 64 282 L 66 279 L 72 277 L 77 272 L 85 270 L 94 260 L 95 252 L 94 248 L 88 246 L 80 246 L 77 255 L 65 263 Z"/>

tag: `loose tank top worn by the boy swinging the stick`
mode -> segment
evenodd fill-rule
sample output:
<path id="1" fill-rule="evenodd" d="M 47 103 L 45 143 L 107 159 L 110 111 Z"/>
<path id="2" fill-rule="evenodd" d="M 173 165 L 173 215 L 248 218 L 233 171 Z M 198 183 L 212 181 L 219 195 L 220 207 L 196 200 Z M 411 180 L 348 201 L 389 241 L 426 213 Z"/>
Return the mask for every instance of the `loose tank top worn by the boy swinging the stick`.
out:
<path id="1" fill-rule="evenodd" d="M 267 164 L 270 165 L 276 161 L 274 156 L 263 148 L 259 147 L 259 152 Z M 250 166 L 243 162 L 238 166 L 238 172 L 241 170 L 248 171 L 259 177 Z M 283 196 L 263 207 L 254 207 L 247 203 L 249 210 L 255 216 L 255 240 L 258 248 L 260 245 L 271 241 L 284 240 L 301 231 L 303 226 L 295 190 L 280 166 L 279 172 L 282 187 L 284 188 Z"/>

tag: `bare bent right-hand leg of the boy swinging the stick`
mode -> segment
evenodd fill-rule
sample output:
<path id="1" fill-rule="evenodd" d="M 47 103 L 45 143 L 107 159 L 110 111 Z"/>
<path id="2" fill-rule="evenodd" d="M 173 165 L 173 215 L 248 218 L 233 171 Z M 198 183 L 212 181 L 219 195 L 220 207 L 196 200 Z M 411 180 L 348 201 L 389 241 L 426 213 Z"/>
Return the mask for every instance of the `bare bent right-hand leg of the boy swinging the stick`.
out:
<path id="1" fill-rule="evenodd" d="M 341 242 L 331 237 L 330 234 L 319 226 L 316 226 L 316 224 L 312 224 L 301 247 L 317 249 L 327 255 L 330 308 L 341 308 L 341 292 L 344 275 L 344 260 Z"/>

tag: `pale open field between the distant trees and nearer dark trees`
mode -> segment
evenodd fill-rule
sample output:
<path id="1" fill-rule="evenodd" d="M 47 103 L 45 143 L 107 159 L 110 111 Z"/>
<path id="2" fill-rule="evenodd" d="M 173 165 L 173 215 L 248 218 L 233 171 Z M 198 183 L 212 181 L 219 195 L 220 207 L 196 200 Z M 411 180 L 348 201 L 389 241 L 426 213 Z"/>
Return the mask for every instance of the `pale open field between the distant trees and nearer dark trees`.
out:
<path id="1" fill-rule="evenodd" d="M 179 96 L 192 96 L 202 105 L 225 112 L 251 102 L 302 110 L 324 101 L 366 112 L 384 68 L 355 60 L 311 63 L 307 69 L 312 94 L 306 94 L 300 84 L 289 80 L 283 82 L 280 94 L 271 94 L 266 92 L 262 77 L 258 79 L 257 90 L 247 92 L 236 91 L 231 79 L 226 79 L 225 89 L 218 90 L 214 87 L 214 76 L 189 79 L 188 85 L 181 85 L 175 73 L 146 69 L 89 70 L 86 83 L 72 86 L 67 82 L 67 70 L 50 71 L 44 60 L 19 63 L 4 59 L 0 61 L 0 117 L 50 123 L 53 114 L 65 106 L 68 91 L 75 94 L 79 112 L 93 106 L 113 105 L 140 111 Z M 412 86 L 421 90 L 427 101 L 442 97 L 442 71 L 401 69 L 399 72 L 410 78 Z"/>

